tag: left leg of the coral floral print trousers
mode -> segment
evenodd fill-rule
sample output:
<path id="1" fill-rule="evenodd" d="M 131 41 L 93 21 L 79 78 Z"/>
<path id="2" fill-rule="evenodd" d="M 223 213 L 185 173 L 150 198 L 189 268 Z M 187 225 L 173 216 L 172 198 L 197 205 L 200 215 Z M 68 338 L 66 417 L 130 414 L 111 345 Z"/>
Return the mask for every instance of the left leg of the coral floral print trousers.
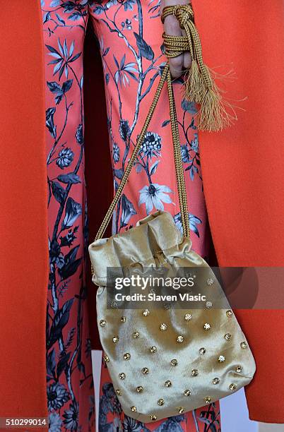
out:
<path id="1" fill-rule="evenodd" d="M 87 1 L 42 1 L 49 218 L 47 403 L 51 432 L 95 430 L 85 284 L 88 232 L 82 57 L 87 20 Z"/>

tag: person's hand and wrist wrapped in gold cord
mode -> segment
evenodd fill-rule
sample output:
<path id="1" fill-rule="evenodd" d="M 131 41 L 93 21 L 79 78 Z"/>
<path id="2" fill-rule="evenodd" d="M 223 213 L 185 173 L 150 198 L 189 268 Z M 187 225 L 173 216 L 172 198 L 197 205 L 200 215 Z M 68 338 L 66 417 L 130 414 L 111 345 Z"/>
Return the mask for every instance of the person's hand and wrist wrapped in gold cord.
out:
<path id="1" fill-rule="evenodd" d="M 160 14 L 165 6 L 175 6 L 177 4 L 190 4 L 189 0 L 161 0 L 160 2 Z M 165 17 L 164 29 L 167 35 L 171 36 L 186 36 L 186 32 L 179 27 L 177 18 L 173 15 Z M 191 55 L 188 51 L 183 52 L 177 57 L 169 59 L 170 72 L 173 78 L 177 78 L 182 75 L 184 69 L 191 67 Z"/>

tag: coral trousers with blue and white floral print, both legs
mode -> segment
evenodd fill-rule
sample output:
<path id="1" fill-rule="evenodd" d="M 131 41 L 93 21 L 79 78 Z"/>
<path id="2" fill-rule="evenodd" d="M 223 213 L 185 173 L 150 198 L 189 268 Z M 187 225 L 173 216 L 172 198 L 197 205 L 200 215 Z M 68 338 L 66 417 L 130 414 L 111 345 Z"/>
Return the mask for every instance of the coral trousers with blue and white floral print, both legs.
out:
<path id="1" fill-rule="evenodd" d="M 165 65 L 158 0 L 42 0 L 45 45 L 49 286 L 47 400 L 49 431 L 95 431 L 85 285 L 88 212 L 84 179 L 83 42 L 88 20 L 100 43 L 105 76 L 114 190 L 122 179 Z M 193 248 L 208 253 L 194 104 L 174 81 Z M 97 143 L 97 145 L 101 143 Z M 105 143 L 105 145 L 107 145 Z M 166 88 L 146 133 L 112 231 L 122 232 L 154 210 L 181 227 Z M 95 288 L 95 287 L 94 287 Z M 95 311 L 93 325 L 96 325 Z M 219 405 L 153 424 L 122 412 L 102 363 L 99 430 L 220 431 Z"/>

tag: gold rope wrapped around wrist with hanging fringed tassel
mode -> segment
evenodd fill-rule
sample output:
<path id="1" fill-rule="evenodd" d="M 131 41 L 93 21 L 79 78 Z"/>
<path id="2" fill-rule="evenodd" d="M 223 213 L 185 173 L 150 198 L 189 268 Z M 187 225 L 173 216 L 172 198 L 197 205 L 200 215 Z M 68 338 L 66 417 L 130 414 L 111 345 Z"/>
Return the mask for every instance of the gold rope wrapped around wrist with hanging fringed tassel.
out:
<path id="1" fill-rule="evenodd" d="M 219 131 L 230 126 L 237 120 L 237 116 L 233 105 L 225 100 L 223 91 L 218 88 L 213 79 L 213 75 L 217 76 L 217 74 L 203 63 L 201 41 L 194 24 L 194 11 L 191 5 L 166 6 L 162 10 L 162 23 L 169 15 L 177 18 L 186 36 L 171 36 L 164 32 L 162 38 L 165 55 L 173 58 L 184 51 L 189 51 L 191 54 L 191 67 L 185 72 L 184 78 L 184 97 L 200 105 L 196 114 L 197 127 L 201 131 Z"/>

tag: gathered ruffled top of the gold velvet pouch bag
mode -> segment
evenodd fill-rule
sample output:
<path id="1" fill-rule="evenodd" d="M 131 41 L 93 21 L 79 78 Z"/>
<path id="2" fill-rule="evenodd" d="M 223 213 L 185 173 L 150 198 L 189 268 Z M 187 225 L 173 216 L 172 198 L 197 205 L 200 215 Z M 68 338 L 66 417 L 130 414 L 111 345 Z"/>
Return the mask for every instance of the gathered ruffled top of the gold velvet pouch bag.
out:
<path id="1" fill-rule="evenodd" d="M 191 240 L 184 239 L 170 213 L 159 210 L 128 231 L 115 234 L 109 239 L 98 239 L 90 244 L 93 282 L 106 286 L 107 268 L 125 270 L 138 263 L 146 267 L 159 265 L 157 258 L 160 259 L 161 254 L 165 258 L 180 256 L 185 253 L 184 249 L 187 249 L 187 252 L 191 250 Z"/>

